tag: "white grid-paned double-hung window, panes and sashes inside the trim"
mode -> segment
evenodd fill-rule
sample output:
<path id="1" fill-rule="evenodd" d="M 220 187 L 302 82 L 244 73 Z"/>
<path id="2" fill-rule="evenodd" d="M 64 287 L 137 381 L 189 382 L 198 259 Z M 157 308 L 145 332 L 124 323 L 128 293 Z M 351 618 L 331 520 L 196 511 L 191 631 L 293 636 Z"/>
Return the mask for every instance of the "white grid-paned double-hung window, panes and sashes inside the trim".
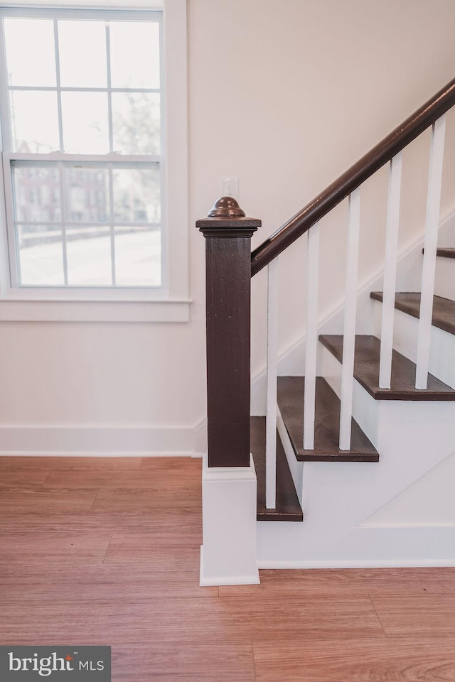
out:
<path id="1" fill-rule="evenodd" d="M 3 22 L 16 283 L 161 286 L 156 15 Z"/>

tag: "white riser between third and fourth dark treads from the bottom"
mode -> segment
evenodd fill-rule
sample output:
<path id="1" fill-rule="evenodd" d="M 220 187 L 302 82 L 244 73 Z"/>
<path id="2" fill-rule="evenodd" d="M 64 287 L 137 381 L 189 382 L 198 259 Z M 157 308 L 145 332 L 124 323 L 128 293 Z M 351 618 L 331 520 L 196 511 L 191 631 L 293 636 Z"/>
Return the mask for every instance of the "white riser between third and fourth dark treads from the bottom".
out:
<path id="1" fill-rule="evenodd" d="M 454 265 L 455 267 L 455 265 Z M 375 308 L 375 330 L 373 334 L 380 338 L 380 301 L 373 301 Z M 412 362 L 417 359 L 417 335 L 419 332 L 419 320 L 395 310 L 395 323 L 393 334 L 393 347 Z M 432 327 L 429 373 L 444 381 L 455 389 L 455 335 L 445 332 L 439 327 Z"/>

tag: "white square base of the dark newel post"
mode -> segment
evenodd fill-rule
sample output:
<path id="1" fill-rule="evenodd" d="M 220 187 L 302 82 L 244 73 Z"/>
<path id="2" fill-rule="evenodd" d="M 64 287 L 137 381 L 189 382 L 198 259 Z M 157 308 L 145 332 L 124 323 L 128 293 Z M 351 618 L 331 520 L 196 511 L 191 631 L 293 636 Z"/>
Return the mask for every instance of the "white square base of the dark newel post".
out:
<path id="1" fill-rule="evenodd" d="M 200 585 L 259 583 L 256 487 L 252 457 L 249 467 L 209 468 L 204 455 Z"/>

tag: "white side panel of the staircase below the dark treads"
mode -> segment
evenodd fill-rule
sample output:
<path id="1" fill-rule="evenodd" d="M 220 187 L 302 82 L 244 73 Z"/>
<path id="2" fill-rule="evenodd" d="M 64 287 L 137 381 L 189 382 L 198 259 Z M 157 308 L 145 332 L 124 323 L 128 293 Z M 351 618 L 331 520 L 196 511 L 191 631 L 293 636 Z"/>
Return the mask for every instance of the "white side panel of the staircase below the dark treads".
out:
<path id="1" fill-rule="evenodd" d="M 333 362 L 340 364 L 335 358 Z M 324 369 L 328 370 L 326 379 L 339 393 L 341 377 L 336 377 L 328 358 Z M 305 462 L 305 521 L 258 524 L 258 565 L 455 565 L 455 529 L 447 525 L 452 524 L 453 512 L 444 516 L 443 507 L 439 525 L 431 527 L 428 524 L 434 523 L 434 517 L 430 512 L 424 516 L 434 495 L 428 472 L 455 450 L 455 404 L 375 401 L 355 381 L 353 416 L 378 448 L 379 462 Z M 401 512 L 394 518 L 390 501 L 419 480 L 423 516 L 409 529 L 401 525 Z M 387 504 L 391 505 L 387 526 L 364 525 Z"/>

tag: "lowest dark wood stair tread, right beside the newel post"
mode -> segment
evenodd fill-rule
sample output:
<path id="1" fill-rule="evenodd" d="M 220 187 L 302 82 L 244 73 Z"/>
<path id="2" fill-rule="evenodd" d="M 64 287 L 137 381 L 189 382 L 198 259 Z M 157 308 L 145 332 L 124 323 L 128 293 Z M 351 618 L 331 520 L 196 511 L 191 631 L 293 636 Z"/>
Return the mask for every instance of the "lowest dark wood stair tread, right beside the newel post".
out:
<path id="1" fill-rule="evenodd" d="M 277 508 L 265 507 L 265 417 L 251 417 L 250 449 L 255 461 L 257 476 L 257 520 L 258 521 L 303 521 L 299 497 L 283 445 L 277 433 Z"/>

